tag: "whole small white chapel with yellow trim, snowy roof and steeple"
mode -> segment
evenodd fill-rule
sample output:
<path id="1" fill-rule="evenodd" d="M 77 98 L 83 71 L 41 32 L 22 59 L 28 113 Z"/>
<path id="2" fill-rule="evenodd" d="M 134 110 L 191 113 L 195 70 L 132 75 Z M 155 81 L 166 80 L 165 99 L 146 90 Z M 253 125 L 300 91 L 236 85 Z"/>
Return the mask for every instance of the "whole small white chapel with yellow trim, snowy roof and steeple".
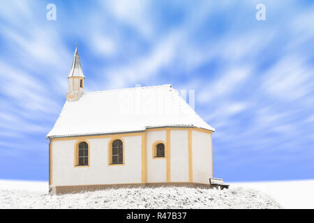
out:
<path id="1" fill-rule="evenodd" d="M 170 84 L 84 92 L 75 49 L 66 102 L 49 139 L 50 193 L 209 185 L 212 133 Z"/>

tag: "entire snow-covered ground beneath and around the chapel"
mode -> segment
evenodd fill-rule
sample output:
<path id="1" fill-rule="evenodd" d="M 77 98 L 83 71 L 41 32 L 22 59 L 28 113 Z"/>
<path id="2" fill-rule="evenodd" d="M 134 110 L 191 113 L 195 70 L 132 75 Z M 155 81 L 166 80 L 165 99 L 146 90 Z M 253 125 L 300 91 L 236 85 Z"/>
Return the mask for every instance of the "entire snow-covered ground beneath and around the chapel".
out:
<path id="1" fill-rule="evenodd" d="M 47 182 L 0 180 L 0 208 L 314 208 L 314 180 L 230 183 L 223 191 L 124 188 L 50 196 L 47 190 Z"/>

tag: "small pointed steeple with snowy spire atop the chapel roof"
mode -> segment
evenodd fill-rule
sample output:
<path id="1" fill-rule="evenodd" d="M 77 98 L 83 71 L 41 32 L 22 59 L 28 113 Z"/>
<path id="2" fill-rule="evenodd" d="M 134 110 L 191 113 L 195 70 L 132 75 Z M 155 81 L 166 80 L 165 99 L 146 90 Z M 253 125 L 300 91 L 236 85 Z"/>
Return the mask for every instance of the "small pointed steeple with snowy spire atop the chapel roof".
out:
<path id="1" fill-rule="evenodd" d="M 84 79 L 85 76 L 76 44 L 71 70 L 68 72 L 68 91 L 66 93 L 66 100 L 68 102 L 75 102 L 81 98 L 84 93 Z"/>

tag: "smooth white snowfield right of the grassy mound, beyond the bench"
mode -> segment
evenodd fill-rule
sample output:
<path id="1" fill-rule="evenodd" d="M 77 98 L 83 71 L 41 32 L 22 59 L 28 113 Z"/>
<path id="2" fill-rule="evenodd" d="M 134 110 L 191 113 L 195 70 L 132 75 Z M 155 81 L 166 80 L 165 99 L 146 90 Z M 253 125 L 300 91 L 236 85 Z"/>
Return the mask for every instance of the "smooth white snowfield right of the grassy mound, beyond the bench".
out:
<path id="1" fill-rule="evenodd" d="M 314 180 L 287 180 L 252 183 L 229 183 L 230 188 L 259 190 L 273 197 L 283 208 L 314 208 Z"/>

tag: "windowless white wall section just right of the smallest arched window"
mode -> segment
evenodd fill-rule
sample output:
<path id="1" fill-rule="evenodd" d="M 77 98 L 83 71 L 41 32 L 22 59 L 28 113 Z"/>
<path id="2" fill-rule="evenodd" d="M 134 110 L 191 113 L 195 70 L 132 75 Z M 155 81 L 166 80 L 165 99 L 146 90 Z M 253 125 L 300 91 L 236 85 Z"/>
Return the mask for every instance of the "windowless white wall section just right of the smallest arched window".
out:
<path id="1" fill-rule="evenodd" d="M 188 130 L 170 131 L 172 182 L 188 182 Z"/>

